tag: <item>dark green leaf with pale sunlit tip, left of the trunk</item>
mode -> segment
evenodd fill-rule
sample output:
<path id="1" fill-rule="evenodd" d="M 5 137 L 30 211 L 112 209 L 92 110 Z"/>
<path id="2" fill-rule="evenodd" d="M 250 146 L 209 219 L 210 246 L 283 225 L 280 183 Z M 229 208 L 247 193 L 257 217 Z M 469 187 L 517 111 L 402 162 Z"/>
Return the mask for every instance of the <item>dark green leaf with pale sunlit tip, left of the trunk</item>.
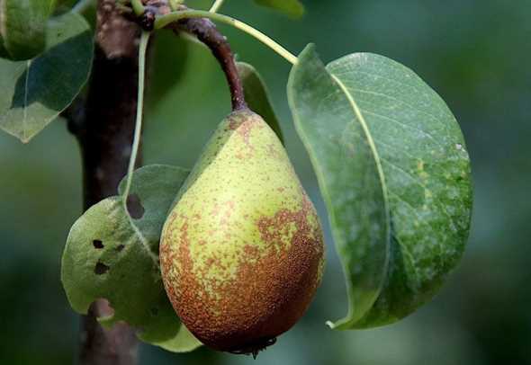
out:
<path id="1" fill-rule="evenodd" d="M 0 59 L 0 129 L 24 143 L 44 129 L 85 85 L 93 39 L 85 19 L 67 13 L 49 22 L 46 51 L 29 61 Z"/>

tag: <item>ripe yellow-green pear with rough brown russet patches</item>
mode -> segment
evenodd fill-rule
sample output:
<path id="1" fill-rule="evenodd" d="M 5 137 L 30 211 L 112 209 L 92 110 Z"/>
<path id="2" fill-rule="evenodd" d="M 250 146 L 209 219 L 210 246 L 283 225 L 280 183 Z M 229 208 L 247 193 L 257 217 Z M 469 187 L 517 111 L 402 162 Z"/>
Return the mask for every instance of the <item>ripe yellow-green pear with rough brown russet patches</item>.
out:
<path id="1" fill-rule="evenodd" d="M 202 343 L 256 353 L 289 330 L 320 285 L 319 217 L 275 132 L 256 113 L 220 123 L 166 219 L 166 293 Z"/>

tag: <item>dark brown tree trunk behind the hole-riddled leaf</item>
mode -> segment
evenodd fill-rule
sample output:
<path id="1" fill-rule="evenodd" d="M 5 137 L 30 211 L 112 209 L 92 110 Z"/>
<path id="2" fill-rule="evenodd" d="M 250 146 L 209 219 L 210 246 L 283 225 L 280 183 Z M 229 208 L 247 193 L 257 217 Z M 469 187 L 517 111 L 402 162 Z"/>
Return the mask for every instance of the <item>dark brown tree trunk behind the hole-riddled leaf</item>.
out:
<path id="1" fill-rule="evenodd" d="M 84 206 L 117 194 L 130 158 L 138 90 L 139 28 L 114 8 L 114 0 L 98 0 L 95 54 L 83 113 L 70 119 L 83 158 Z M 138 164 L 138 161 L 137 161 Z M 112 313 L 97 300 L 82 316 L 81 365 L 132 365 L 138 340 L 126 324 L 105 330 L 98 316 Z"/>

